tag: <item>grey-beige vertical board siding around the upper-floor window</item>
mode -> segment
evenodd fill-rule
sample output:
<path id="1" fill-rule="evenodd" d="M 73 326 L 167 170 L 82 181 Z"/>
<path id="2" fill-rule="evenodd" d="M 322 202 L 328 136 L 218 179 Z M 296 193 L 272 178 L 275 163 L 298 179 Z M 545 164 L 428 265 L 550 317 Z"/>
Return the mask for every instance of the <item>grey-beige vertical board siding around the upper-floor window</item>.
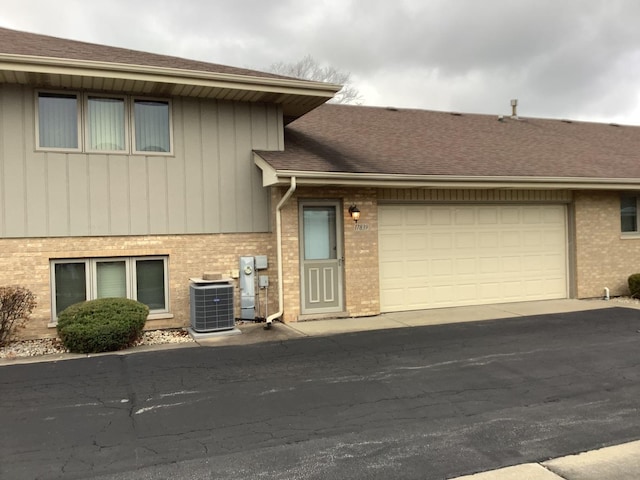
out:
<path id="1" fill-rule="evenodd" d="M 253 149 L 282 148 L 274 105 L 172 99 L 173 155 L 36 151 L 34 90 L 3 85 L 3 237 L 264 232 Z M 250 213 L 251 212 L 251 213 Z"/>

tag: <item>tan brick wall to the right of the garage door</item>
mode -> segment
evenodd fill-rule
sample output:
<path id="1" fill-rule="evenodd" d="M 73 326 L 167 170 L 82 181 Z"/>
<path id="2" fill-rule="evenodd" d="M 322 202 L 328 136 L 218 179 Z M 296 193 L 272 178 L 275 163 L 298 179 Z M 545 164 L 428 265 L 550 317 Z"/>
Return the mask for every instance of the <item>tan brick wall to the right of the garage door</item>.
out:
<path id="1" fill-rule="evenodd" d="M 627 278 L 640 272 L 640 236 L 620 233 L 619 192 L 575 194 L 578 298 L 627 295 Z"/>

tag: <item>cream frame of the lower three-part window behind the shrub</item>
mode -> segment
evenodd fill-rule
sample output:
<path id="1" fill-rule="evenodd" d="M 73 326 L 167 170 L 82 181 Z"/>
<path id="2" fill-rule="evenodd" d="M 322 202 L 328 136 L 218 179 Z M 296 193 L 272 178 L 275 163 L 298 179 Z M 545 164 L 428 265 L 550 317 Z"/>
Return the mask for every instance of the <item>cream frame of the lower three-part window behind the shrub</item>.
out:
<path id="1" fill-rule="evenodd" d="M 91 257 L 91 258 L 55 258 L 50 263 L 50 288 L 51 288 L 51 319 L 53 324 L 58 322 L 57 305 L 56 305 L 56 272 L 55 266 L 67 263 L 84 263 L 85 265 L 85 298 L 86 300 L 95 300 L 98 294 L 98 275 L 97 265 L 100 262 L 125 262 L 125 281 L 126 294 L 129 299 L 138 299 L 137 295 L 137 263 L 141 260 L 162 260 L 163 262 L 163 280 L 164 280 L 164 308 L 149 310 L 149 317 L 161 316 L 166 317 L 170 312 L 169 302 L 169 256 L 168 255 L 142 255 L 132 257 Z"/>

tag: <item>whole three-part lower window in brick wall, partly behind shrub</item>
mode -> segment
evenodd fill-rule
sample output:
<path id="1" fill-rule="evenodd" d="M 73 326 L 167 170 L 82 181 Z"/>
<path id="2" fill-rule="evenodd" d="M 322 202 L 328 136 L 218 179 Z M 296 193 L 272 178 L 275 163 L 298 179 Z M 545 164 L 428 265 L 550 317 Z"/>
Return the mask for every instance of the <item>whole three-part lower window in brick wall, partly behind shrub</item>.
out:
<path id="1" fill-rule="evenodd" d="M 151 313 L 169 310 L 167 257 L 53 260 L 51 287 L 55 318 L 69 305 L 107 297 L 137 300 Z"/>

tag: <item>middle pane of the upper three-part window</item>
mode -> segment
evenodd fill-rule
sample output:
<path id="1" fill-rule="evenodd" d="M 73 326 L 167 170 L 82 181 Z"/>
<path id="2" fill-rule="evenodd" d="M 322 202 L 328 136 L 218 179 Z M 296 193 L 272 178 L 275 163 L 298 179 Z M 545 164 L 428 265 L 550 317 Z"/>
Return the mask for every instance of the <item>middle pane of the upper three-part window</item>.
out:
<path id="1" fill-rule="evenodd" d="M 90 150 L 126 148 L 124 99 L 89 97 L 88 116 Z"/>

